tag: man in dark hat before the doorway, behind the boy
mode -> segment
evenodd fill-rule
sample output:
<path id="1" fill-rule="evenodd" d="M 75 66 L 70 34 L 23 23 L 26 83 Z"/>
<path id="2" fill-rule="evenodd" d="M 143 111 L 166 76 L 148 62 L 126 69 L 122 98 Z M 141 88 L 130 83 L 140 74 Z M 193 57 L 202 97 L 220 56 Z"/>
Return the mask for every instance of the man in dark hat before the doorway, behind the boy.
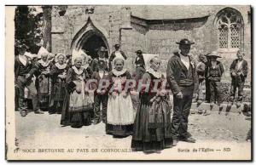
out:
<path id="1" fill-rule="evenodd" d="M 107 64 L 107 68 L 106 70 L 109 71 L 109 66 L 108 66 L 108 57 L 107 57 L 107 49 L 104 48 L 104 47 L 100 47 L 98 48 L 97 50 L 97 58 L 94 59 L 92 62 L 91 62 L 91 70 L 92 71 L 99 71 L 99 61 L 102 60 L 102 61 L 105 61 L 106 64 Z"/>

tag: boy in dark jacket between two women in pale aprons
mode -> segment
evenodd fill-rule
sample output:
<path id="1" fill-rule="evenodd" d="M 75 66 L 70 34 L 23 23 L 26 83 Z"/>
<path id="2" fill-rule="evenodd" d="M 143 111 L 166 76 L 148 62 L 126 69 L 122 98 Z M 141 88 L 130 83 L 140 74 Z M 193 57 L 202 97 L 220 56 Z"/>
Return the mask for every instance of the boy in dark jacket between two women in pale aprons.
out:
<path id="1" fill-rule="evenodd" d="M 107 64 L 104 60 L 99 60 L 99 71 L 94 71 L 92 74 L 92 79 L 96 79 L 97 83 L 93 83 L 96 89 L 94 95 L 94 124 L 99 122 L 106 123 L 107 121 L 107 108 L 108 108 L 108 87 L 102 88 L 102 80 L 108 81 L 108 71 Z M 102 81 L 102 83 L 101 83 Z M 103 85 L 101 87 L 101 84 Z M 100 85 L 100 86 L 99 86 Z M 102 111 L 101 111 L 102 104 Z M 102 114 L 101 114 L 102 113 Z"/>

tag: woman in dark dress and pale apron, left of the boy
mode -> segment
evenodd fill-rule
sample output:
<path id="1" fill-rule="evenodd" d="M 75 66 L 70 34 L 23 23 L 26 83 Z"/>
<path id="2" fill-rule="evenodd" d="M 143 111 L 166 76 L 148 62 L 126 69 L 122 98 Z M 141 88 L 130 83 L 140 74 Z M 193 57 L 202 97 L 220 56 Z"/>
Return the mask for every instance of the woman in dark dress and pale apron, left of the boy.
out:
<path id="1" fill-rule="evenodd" d="M 90 125 L 92 101 L 85 91 L 85 80 L 90 78 L 83 65 L 83 58 L 76 57 L 74 65 L 67 71 L 67 101 L 61 114 L 61 124 L 71 125 L 72 128 L 81 128 Z"/>

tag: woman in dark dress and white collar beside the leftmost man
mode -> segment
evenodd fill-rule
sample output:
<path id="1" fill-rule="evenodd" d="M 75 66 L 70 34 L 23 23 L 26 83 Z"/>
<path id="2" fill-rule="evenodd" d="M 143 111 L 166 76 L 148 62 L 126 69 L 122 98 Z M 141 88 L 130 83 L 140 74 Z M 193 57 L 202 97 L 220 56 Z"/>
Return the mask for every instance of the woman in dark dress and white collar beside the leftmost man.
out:
<path id="1" fill-rule="evenodd" d="M 38 60 L 38 71 L 36 71 L 36 87 L 38 89 L 40 108 L 46 111 L 49 108 L 49 94 L 51 87 L 49 71 L 52 65 L 52 60 L 49 60 L 49 54 L 41 54 L 41 60 Z"/>

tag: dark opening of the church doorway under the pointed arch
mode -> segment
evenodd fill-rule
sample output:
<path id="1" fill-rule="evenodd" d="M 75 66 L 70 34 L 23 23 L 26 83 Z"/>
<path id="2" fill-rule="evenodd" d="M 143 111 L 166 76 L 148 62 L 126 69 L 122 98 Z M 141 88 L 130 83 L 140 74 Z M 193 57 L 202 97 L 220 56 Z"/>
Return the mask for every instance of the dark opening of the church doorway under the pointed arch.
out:
<path id="1" fill-rule="evenodd" d="M 97 57 L 97 49 L 100 47 L 108 49 L 107 45 L 102 40 L 102 37 L 93 34 L 84 42 L 82 49 L 84 49 L 86 54 L 90 55 L 92 59 L 94 59 Z M 108 52 L 106 55 L 108 57 Z"/>

